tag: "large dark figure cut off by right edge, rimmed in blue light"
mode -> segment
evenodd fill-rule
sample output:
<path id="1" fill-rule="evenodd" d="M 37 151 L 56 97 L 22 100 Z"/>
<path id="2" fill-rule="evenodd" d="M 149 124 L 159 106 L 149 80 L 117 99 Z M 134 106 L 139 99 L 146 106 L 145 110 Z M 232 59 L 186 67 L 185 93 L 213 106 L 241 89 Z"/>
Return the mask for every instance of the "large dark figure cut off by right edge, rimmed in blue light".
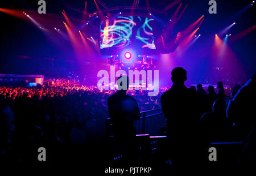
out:
<path id="1" fill-rule="evenodd" d="M 238 164 L 245 166 L 255 166 L 255 89 L 256 74 L 243 84 L 233 99 L 229 101 L 226 110 L 227 117 L 240 127 L 238 134 L 241 135 L 243 140 L 243 151 Z"/>

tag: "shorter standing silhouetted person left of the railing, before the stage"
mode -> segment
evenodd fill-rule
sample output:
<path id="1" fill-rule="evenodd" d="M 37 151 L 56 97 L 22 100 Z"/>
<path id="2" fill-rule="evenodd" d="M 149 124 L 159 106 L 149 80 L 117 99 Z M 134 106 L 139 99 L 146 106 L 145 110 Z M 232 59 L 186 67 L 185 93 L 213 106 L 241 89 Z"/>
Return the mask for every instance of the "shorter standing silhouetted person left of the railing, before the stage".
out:
<path id="1" fill-rule="evenodd" d="M 126 95 L 129 78 L 125 75 L 117 79 L 118 91 L 108 98 L 110 122 L 113 124 L 115 140 L 127 140 L 136 135 L 134 121 L 140 118 L 137 101 Z"/>

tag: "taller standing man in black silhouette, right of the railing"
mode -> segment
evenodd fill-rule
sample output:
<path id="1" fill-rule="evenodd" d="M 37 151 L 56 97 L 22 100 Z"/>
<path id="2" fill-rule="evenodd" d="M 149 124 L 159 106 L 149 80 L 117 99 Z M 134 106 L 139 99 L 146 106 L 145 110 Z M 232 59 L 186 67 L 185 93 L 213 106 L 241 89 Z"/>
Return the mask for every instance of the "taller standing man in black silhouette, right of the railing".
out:
<path id="1" fill-rule="evenodd" d="M 201 106 L 199 94 L 184 85 L 187 71 L 176 67 L 171 75 L 172 87 L 161 96 L 161 104 L 167 118 L 168 153 L 173 164 L 179 165 L 191 162 L 191 157 L 199 154 L 197 130 Z"/>

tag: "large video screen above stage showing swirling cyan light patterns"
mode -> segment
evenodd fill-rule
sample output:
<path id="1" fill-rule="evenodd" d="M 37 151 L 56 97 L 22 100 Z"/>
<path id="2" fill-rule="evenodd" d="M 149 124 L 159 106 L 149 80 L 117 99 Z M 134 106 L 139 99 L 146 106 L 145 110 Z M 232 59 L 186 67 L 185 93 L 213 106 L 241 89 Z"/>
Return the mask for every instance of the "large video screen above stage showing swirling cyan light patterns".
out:
<path id="1" fill-rule="evenodd" d="M 131 45 L 133 48 L 156 49 L 153 29 L 154 19 L 140 16 L 115 16 L 101 22 L 100 48 Z"/>

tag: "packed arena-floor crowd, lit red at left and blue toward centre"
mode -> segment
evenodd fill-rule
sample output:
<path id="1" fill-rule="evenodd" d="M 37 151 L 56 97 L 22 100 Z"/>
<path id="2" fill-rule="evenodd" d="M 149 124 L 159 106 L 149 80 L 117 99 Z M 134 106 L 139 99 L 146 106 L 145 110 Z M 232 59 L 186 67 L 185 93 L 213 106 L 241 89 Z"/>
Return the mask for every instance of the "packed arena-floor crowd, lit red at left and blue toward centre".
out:
<path id="1" fill-rule="evenodd" d="M 1 123 L 5 127 L 1 128 L 5 144 L 1 150 L 8 156 L 6 153 L 9 149 L 13 151 L 11 147 L 17 139 L 20 143 L 39 139 L 43 140 L 40 143 L 104 141 L 109 118 L 107 100 L 114 92 L 100 91 L 96 86 L 82 85 L 71 78 L 47 79 L 39 87 L 0 87 L 1 117 L 4 117 L 1 120 L 5 122 Z M 160 94 L 156 97 L 148 97 L 142 91 L 129 91 L 129 94 L 136 98 L 141 110 L 160 108 Z"/>

